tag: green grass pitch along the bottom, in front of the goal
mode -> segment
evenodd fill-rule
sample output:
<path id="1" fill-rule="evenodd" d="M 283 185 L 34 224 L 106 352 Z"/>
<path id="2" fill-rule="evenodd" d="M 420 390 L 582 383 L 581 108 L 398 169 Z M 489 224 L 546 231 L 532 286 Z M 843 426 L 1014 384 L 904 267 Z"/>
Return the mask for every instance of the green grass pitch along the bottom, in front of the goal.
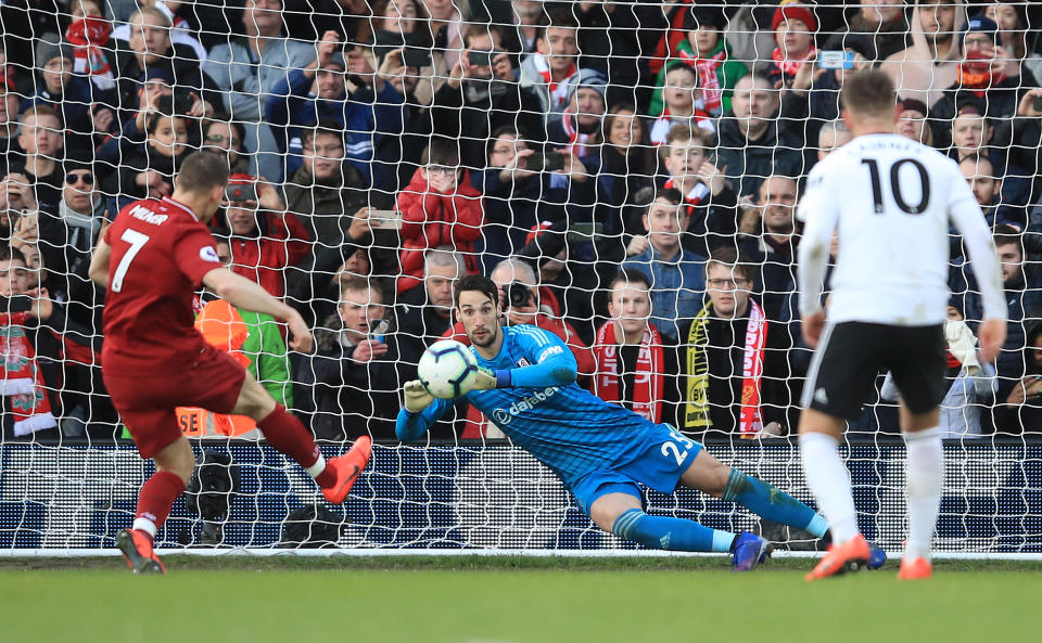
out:
<path id="1" fill-rule="evenodd" d="M 945 562 L 808 583 L 806 558 L 0 558 L 15 642 L 723 643 L 1039 640 L 1042 563 Z"/>

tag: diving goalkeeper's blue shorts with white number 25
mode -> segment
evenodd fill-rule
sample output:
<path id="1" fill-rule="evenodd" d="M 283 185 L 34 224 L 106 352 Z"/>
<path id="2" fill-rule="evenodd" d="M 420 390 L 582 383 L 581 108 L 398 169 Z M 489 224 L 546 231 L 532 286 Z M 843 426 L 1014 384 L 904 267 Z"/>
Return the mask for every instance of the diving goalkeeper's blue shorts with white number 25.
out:
<path id="1" fill-rule="evenodd" d="M 608 468 L 580 477 L 571 486 L 571 491 L 586 515 L 589 515 L 594 502 L 607 493 L 641 498 L 640 485 L 661 493 L 672 493 L 701 450 L 701 443 L 684 437 L 669 424 L 659 424 L 632 453 Z"/>

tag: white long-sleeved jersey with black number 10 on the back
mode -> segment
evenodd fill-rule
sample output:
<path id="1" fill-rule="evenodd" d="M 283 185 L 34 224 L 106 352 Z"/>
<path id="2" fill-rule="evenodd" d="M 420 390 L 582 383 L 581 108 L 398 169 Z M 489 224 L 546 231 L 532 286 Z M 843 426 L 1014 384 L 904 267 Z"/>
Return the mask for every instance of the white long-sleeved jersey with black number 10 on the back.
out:
<path id="1" fill-rule="evenodd" d="M 991 233 L 958 165 L 898 134 L 861 136 L 814 166 L 797 217 L 800 310 L 821 308 L 833 235 L 829 322 L 901 326 L 943 323 L 949 299 L 949 223 L 963 234 L 984 317 L 1006 317 Z M 838 230 L 837 230 L 838 229 Z"/>

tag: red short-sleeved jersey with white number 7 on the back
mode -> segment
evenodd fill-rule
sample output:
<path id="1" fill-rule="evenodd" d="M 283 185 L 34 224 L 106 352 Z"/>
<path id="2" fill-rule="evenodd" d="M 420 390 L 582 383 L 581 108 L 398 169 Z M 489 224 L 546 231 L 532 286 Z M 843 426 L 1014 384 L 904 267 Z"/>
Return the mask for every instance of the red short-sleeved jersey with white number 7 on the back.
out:
<path id="1" fill-rule="evenodd" d="M 194 326 L 195 291 L 220 268 L 209 231 L 173 198 L 143 200 L 119 211 L 105 243 L 104 369 L 157 374 L 191 364 L 206 347 Z"/>

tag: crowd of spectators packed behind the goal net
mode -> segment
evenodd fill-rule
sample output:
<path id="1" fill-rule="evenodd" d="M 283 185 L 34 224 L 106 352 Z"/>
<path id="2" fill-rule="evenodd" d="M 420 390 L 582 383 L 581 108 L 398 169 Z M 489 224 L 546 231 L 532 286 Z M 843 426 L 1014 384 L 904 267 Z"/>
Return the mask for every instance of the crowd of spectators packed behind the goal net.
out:
<path id="1" fill-rule="evenodd" d="M 90 255 L 196 149 L 232 171 L 221 261 L 317 342 L 288 351 L 272 319 L 207 293 L 196 326 L 320 440 L 394 438 L 420 355 L 461 336 L 453 282 L 468 273 L 501 287 L 507 323 L 564 339 L 603 399 L 692 436 L 787 435 L 811 357 L 796 206 L 850 140 L 838 93 L 867 67 L 900 88 L 897 133 L 958 163 L 1003 262 L 1008 340 L 980 363 L 981 301 L 952 233 L 945 436 L 1042 432 L 1030 4 L 4 2 L 3 440 L 124 435 Z M 853 432 L 897 432 L 885 373 L 877 388 Z M 180 417 L 193 436 L 256 435 L 243 417 Z M 499 436 L 463 404 L 433 432 Z"/>

